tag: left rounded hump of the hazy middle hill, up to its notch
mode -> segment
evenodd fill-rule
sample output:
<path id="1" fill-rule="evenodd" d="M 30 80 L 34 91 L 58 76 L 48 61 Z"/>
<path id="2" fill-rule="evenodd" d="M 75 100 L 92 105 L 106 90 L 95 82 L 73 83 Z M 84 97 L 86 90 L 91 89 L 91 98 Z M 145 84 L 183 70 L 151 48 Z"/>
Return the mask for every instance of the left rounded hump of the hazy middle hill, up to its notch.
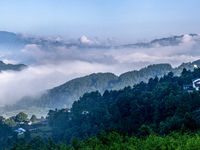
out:
<path id="1" fill-rule="evenodd" d="M 14 108 L 48 107 L 63 108 L 71 107 L 72 103 L 84 93 L 98 90 L 103 93 L 112 89 L 118 77 L 112 73 L 96 73 L 68 81 L 58 87 L 46 91 L 39 98 L 25 97 Z"/>

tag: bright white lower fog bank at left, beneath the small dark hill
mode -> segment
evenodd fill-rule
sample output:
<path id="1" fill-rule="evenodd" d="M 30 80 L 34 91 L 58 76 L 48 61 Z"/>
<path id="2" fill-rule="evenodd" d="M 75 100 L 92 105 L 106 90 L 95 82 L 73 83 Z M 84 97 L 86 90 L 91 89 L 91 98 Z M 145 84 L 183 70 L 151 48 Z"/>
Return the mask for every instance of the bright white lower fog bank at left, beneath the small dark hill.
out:
<path id="1" fill-rule="evenodd" d="M 81 61 L 60 62 L 57 65 L 30 66 L 20 72 L 0 73 L 0 104 L 12 104 L 24 96 L 34 96 L 68 80 L 95 72 L 114 71 L 112 66 Z"/>

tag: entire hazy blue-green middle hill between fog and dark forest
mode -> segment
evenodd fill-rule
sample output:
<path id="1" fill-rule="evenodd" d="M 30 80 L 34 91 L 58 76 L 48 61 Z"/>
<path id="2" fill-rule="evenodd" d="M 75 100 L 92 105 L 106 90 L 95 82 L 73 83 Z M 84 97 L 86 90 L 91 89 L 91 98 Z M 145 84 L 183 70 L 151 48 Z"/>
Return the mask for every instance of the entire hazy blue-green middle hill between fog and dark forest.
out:
<path id="1" fill-rule="evenodd" d="M 71 107 L 84 93 L 98 90 L 103 93 L 105 90 L 119 90 L 126 86 L 133 86 L 141 81 L 147 82 L 149 78 L 161 77 L 172 71 L 174 75 L 180 75 L 183 68 L 193 70 L 194 65 L 200 66 L 200 60 L 190 63 L 183 63 L 177 68 L 170 64 L 154 64 L 142 68 L 139 71 L 126 72 L 119 77 L 112 73 L 97 73 L 85 77 L 73 79 L 65 84 L 50 89 L 40 98 L 33 99 L 26 97 L 13 107 L 6 107 L 6 110 L 22 109 L 32 106 L 42 108 L 64 108 Z"/>

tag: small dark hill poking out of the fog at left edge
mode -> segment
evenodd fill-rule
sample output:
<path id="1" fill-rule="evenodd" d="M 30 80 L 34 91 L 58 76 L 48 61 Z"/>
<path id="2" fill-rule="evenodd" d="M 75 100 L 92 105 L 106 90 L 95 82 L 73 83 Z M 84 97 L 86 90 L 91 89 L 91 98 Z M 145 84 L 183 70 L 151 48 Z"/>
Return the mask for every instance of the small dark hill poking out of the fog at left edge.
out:
<path id="1" fill-rule="evenodd" d="M 5 64 L 3 61 L 0 61 L 0 72 L 5 71 L 5 70 L 15 70 L 15 71 L 20 71 L 27 66 L 24 64 L 17 64 L 17 65 L 12 65 L 12 64 Z"/>

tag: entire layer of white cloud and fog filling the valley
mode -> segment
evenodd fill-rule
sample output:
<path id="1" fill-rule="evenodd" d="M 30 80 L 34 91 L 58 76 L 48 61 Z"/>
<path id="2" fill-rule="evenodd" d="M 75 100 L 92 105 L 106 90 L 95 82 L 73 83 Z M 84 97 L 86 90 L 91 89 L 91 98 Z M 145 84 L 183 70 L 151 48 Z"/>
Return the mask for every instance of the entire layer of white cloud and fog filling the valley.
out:
<path id="1" fill-rule="evenodd" d="M 27 94 L 34 95 L 94 72 L 113 72 L 119 75 L 149 64 L 170 63 L 178 66 L 182 62 L 200 59 L 200 35 L 184 35 L 178 41 L 181 42 L 176 46 L 161 46 L 157 43 L 151 48 L 120 49 L 78 49 L 74 45 L 74 48 L 66 48 L 65 45 L 57 46 L 50 42 L 45 45 L 27 44 L 20 54 L 32 60 L 34 65 L 21 72 L 0 73 L 0 102 L 12 103 Z M 79 42 L 100 44 L 97 39 L 88 39 L 86 36 Z M 7 62 L 9 60 L 14 59 L 8 59 Z"/>

